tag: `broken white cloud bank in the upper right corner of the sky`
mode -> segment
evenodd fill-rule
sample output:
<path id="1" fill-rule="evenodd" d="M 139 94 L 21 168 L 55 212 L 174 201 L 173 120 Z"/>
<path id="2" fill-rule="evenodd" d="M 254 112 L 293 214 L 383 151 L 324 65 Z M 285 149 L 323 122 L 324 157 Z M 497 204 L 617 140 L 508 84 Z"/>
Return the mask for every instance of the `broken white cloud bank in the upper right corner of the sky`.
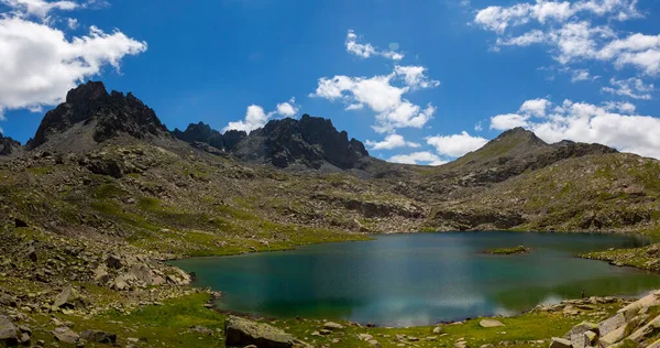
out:
<path id="1" fill-rule="evenodd" d="M 646 75 L 660 74 L 660 35 L 619 34 L 617 21 L 640 18 L 636 0 L 581 0 L 517 3 L 488 7 L 477 12 L 474 22 L 496 33 L 501 46 L 546 44 L 561 64 L 579 61 L 610 62 L 617 68 L 631 66 Z M 593 25 L 593 18 L 607 21 Z M 515 33 L 522 28 L 522 33 Z M 529 29 L 529 26 L 537 26 Z M 585 78 L 583 78 L 585 79 Z M 575 80 L 581 80 L 580 76 Z"/>

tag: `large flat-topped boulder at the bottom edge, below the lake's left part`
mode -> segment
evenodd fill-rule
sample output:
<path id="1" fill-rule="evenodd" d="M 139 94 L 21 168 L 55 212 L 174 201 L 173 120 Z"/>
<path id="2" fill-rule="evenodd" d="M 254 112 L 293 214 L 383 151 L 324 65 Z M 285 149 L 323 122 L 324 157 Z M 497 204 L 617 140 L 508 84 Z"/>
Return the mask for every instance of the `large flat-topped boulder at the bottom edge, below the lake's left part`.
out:
<path id="1" fill-rule="evenodd" d="M 224 320 L 224 334 L 228 347 L 289 348 L 295 342 L 294 336 L 279 328 L 237 316 Z"/>

